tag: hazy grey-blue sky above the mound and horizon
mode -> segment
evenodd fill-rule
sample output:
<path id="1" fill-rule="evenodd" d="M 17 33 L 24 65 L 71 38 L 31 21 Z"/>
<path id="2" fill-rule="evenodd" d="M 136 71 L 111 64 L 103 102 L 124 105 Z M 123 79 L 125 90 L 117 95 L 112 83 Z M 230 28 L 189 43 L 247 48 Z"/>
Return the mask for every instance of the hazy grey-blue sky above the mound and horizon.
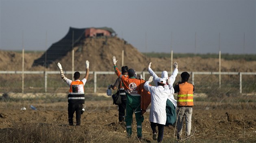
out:
<path id="1" fill-rule="evenodd" d="M 140 52 L 256 54 L 256 0 L 0 0 L 0 49 L 111 27 Z"/>

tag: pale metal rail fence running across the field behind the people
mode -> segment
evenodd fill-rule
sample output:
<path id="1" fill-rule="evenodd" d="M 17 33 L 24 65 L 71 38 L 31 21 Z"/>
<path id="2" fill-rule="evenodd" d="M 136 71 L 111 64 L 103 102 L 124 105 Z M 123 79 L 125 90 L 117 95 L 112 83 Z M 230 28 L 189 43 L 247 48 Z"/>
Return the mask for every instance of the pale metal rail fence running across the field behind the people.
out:
<path id="1" fill-rule="evenodd" d="M 148 71 L 137 71 L 144 79 L 150 76 Z M 155 71 L 161 76 L 161 71 Z M 169 72 L 171 73 L 171 72 Z M 179 72 L 178 74 L 181 74 Z M 201 72 L 189 71 L 191 78 L 189 82 L 195 85 L 198 93 L 206 90 L 227 88 L 239 93 L 255 93 L 256 72 Z M 20 75 L 26 75 L 20 77 Z M 72 71 L 64 71 L 67 78 L 72 79 Z M 85 71 L 81 71 L 85 74 Z M 89 93 L 105 92 L 108 84 L 113 84 L 117 78 L 114 71 L 90 71 L 89 79 L 85 88 Z M 15 76 L 14 76 L 15 75 Z M 92 76 L 93 75 L 93 76 Z M 9 78 L 8 78 L 9 77 Z M 93 80 L 92 80 L 93 77 Z M 245 78 L 243 78 L 245 77 Z M 176 77 L 176 81 L 180 76 Z M 65 83 L 60 84 L 61 77 L 59 71 L 0 71 L 1 92 L 33 92 L 52 93 L 67 90 Z"/>

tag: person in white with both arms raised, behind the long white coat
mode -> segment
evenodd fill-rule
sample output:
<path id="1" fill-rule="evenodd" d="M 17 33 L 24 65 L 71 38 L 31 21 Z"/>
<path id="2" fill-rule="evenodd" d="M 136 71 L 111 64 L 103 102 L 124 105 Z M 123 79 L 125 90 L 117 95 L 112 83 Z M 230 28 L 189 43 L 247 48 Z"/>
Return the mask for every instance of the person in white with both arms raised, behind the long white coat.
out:
<path id="1" fill-rule="evenodd" d="M 177 74 L 179 72 L 178 71 L 178 63 L 174 62 L 173 66 L 174 66 L 174 71 L 171 74 L 171 76 L 169 77 L 171 85 L 174 84 L 175 78 L 176 78 L 176 76 L 177 76 Z M 159 77 L 151 69 L 151 62 L 148 65 L 148 72 L 150 73 L 151 76 L 153 76 L 154 83 L 155 83 L 155 85 L 157 85 L 157 81 L 158 81 Z M 168 78 L 167 71 L 162 71 L 161 78 L 163 78 L 163 79 L 167 79 Z M 165 84 L 164 87 L 165 88 L 169 88 L 167 86 L 167 84 Z M 166 101 L 167 120 L 166 120 L 165 126 L 174 125 L 174 123 L 176 122 L 176 119 L 177 119 L 176 107 L 177 107 L 177 100 L 174 99 L 174 94 L 171 94 L 171 95 L 168 96 L 168 99 Z"/>

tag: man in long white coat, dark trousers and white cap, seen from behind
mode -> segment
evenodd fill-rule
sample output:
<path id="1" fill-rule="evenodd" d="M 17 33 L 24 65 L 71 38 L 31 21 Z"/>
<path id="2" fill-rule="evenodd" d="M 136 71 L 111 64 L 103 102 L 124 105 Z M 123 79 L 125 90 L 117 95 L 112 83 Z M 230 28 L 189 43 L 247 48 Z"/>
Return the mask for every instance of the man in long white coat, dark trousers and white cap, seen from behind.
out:
<path id="1" fill-rule="evenodd" d="M 169 88 L 165 88 L 166 79 L 158 78 L 157 86 L 150 86 L 149 83 L 153 81 L 153 77 L 150 76 L 147 82 L 144 84 L 145 90 L 151 94 L 151 108 L 150 108 L 150 126 L 153 131 L 153 139 L 157 142 L 163 140 L 163 131 L 166 122 L 166 101 L 170 94 L 174 94 L 174 88 L 171 81 L 168 78 L 167 83 Z M 156 139 L 156 126 L 158 126 L 158 137 Z"/>

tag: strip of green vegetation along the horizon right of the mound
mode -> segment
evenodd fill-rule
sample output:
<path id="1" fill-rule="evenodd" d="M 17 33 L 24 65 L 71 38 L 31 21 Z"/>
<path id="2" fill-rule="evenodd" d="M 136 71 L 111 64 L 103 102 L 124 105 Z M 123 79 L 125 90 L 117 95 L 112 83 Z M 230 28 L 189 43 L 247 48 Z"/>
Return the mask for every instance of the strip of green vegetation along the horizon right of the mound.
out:
<path id="1" fill-rule="evenodd" d="M 148 57 L 157 57 L 157 58 L 169 58 L 171 57 L 171 53 L 142 53 Z M 203 59 L 207 58 L 219 58 L 219 54 L 207 53 L 207 54 L 193 54 L 193 53 L 173 53 L 173 58 L 182 58 L 182 57 L 201 57 Z M 245 61 L 256 61 L 255 54 L 221 54 L 221 59 L 226 60 L 236 60 L 236 59 L 244 59 Z"/>

